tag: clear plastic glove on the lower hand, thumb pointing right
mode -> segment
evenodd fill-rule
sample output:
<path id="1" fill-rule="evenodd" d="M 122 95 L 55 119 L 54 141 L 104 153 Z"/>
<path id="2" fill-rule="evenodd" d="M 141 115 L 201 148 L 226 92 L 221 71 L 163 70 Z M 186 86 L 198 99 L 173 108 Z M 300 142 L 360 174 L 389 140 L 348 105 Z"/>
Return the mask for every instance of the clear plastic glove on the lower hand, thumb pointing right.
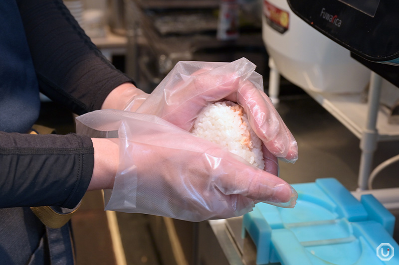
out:
<path id="1" fill-rule="evenodd" d="M 297 193 L 279 177 L 154 115 L 101 110 L 77 131 L 119 142 L 119 169 L 106 210 L 188 221 L 229 218 L 258 201 L 293 207 Z"/>

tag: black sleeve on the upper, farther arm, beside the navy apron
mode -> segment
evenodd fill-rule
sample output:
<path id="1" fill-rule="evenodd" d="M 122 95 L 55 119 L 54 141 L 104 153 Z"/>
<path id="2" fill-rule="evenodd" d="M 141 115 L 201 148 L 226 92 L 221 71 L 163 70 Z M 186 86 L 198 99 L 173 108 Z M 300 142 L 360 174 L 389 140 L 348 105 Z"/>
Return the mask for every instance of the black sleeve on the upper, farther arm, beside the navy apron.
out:
<path id="1" fill-rule="evenodd" d="M 76 114 L 101 108 L 133 82 L 102 56 L 62 0 L 18 0 L 40 91 Z"/>

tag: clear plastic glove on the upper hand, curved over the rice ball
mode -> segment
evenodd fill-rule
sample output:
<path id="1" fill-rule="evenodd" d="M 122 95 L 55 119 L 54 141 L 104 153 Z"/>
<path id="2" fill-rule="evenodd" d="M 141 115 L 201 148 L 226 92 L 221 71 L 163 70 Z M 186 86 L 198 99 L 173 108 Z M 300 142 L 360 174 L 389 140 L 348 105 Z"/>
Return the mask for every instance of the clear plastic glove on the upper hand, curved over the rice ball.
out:
<path id="1" fill-rule="evenodd" d="M 132 100 L 126 111 L 152 114 L 191 131 L 201 110 L 222 99 L 238 103 L 249 123 L 275 156 L 295 162 L 298 146 L 263 92 L 262 76 L 245 58 L 231 63 L 179 62 L 143 101 Z M 141 106 L 137 109 L 137 104 Z"/>

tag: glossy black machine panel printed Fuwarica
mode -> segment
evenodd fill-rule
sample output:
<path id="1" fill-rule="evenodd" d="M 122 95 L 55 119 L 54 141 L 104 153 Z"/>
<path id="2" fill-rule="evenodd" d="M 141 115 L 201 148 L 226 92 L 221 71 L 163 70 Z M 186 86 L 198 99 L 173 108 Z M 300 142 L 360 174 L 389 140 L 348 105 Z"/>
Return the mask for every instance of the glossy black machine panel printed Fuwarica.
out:
<path id="1" fill-rule="evenodd" d="M 377 4 L 371 1 L 362 11 L 361 6 L 355 9 L 343 1 L 348 2 L 288 0 L 288 3 L 311 26 L 368 60 L 383 62 L 399 57 L 399 1 L 380 0 Z M 373 17 L 370 13 L 376 5 Z"/>

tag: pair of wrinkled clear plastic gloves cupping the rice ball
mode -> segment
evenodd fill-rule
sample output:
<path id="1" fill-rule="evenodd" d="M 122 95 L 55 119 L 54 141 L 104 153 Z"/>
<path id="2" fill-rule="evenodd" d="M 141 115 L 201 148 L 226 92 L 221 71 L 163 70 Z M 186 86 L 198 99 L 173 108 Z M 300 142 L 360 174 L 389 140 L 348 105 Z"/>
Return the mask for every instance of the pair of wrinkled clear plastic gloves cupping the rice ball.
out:
<path id="1" fill-rule="evenodd" d="M 83 131 L 118 130 L 120 164 L 106 210 L 198 222 L 243 215 L 257 202 L 294 207 L 298 194 L 276 175 L 277 156 L 296 160 L 297 144 L 254 69 L 245 58 L 180 62 L 135 113 L 132 104 L 78 117 Z M 263 140 L 267 171 L 189 132 L 203 108 L 220 100 L 243 106 Z"/>

